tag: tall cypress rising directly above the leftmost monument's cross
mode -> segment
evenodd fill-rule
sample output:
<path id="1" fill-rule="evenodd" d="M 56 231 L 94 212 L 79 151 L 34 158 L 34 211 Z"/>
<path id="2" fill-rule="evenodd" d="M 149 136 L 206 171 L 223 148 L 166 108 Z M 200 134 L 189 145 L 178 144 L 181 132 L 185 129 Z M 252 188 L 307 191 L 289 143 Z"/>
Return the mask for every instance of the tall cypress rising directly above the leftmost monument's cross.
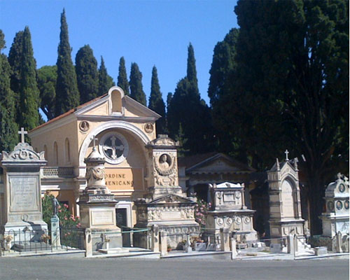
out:
<path id="1" fill-rule="evenodd" d="M 23 32 L 22 62 L 20 69 L 20 127 L 31 130 L 39 124 L 39 90 L 36 84 L 36 61 L 28 27 Z"/>

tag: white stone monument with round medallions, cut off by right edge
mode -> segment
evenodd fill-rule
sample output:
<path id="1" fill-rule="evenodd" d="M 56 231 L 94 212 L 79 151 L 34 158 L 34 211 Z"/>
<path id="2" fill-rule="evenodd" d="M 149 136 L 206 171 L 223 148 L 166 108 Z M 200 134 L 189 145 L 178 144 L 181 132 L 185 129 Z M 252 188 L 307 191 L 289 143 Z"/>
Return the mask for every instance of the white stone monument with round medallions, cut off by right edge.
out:
<path id="1" fill-rule="evenodd" d="M 339 232 L 349 235 L 349 179 L 337 174 L 337 180 L 325 189 L 325 213 L 322 220 L 323 236 L 335 237 Z"/>

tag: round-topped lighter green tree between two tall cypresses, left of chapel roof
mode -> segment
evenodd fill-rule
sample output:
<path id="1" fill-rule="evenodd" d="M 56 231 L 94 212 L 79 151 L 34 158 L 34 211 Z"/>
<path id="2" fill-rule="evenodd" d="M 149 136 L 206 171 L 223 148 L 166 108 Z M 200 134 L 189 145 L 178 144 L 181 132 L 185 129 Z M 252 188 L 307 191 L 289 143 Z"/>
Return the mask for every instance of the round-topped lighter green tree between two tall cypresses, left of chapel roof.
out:
<path id="1" fill-rule="evenodd" d="M 41 110 L 48 120 L 55 117 L 55 98 L 56 98 L 56 81 L 57 66 L 42 66 L 37 71 L 38 89 L 41 99 Z"/>

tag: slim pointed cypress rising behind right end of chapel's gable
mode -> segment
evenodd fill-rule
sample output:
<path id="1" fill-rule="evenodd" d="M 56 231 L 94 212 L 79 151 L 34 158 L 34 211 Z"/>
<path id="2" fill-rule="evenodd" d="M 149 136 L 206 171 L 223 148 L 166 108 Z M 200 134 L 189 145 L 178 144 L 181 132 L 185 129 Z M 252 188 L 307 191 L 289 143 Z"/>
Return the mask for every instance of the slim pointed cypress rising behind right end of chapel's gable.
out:
<path id="1" fill-rule="evenodd" d="M 151 78 L 151 94 L 148 101 L 148 108 L 159 113 L 162 118 L 155 122 L 157 127 L 157 134 L 165 134 L 167 123 L 165 117 L 165 104 L 162 99 L 162 92 L 160 92 L 160 85 L 158 80 L 157 68 L 153 66 Z"/>

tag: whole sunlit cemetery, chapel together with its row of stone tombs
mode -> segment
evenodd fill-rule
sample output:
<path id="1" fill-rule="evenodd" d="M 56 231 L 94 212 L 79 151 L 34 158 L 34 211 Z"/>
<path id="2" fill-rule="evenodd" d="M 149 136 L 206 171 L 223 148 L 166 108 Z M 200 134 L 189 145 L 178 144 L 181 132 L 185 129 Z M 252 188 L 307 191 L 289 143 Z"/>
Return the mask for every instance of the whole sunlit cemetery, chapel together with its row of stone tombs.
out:
<path id="1" fill-rule="evenodd" d="M 179 165 L 179 142 L 155 134 L 158 118 L 120 87 L 111 87 L 34 130 L 22 127 L 13 151 L 1 151 L 1 255 L 222 254 L 234 260 L 349 253 L 346 176 L 338 174 L 329 183 L 319 217 L 323 234 L 310 236 L 297 159 L 290 160 L 286 151 L 266 172 L 268 230 L 262 235 L 255 230 L 262 213 L 251 207 L 254 170 L 221 154 L 180 171 L 185 165 Z M 207 176 L 233 166 L 239 169 L 231 181 Z"/>

